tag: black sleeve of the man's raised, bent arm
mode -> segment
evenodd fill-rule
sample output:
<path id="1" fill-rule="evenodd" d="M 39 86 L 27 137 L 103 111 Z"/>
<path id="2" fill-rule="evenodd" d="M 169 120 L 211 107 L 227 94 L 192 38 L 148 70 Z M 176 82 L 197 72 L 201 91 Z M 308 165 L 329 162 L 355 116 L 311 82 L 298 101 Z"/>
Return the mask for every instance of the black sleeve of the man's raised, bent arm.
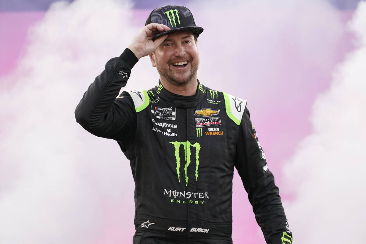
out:
<path id="1" fill-rule="evenodd" d="M 119 140 L 127 150 L 136 130 L 136 113 L 131 97 L 117 95 L 127 83 L 138 59 L 130 49 L 107 62 L 75 109 L 76 121 L 91 134 Z"/>

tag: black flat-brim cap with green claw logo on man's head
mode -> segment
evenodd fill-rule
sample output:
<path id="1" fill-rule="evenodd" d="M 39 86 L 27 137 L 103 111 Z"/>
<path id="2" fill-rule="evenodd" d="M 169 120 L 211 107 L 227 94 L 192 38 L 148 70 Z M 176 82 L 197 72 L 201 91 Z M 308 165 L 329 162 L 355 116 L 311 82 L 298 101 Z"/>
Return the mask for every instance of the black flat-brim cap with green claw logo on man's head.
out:
<path id="1" fill-rule="evenodd" d="M 197 37 L 203 31 L 202 27 L 198 27 L 194 23 L 191 11 L 183 6 L 165 5 L 163 7 L 154 9 L 150 13 L 149 18 L 147 18 L 145 26 L 149 25 L 150 23 L 158 23 L 170 27 L 170 30 L 157 34 L 153 38 L 153 41 L 155 41 L 156 38 L 160 37 L 161 35 L 179 30 L 190 30 L 197 34 Z"/>

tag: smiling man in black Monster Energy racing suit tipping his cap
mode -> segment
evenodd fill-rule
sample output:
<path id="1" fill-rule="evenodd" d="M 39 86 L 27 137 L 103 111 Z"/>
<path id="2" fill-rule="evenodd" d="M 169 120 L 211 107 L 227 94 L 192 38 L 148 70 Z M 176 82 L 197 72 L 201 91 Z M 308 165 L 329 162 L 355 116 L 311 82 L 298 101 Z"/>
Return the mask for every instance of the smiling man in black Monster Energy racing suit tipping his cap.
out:
<path id="1" fill-rule="evenodd" d="M 76 120 L 94 135 L 117 140 L 131 162 L 134 244 L 232 243 L 234 166 L 266 242 L 291 244 L 246 100 L 197 80 L 202 31 L 183 6 L 153 10 L 130 46 L 90 85 Z M 160 74 L 158 85 L 115 98 L 147 55 Z"/>

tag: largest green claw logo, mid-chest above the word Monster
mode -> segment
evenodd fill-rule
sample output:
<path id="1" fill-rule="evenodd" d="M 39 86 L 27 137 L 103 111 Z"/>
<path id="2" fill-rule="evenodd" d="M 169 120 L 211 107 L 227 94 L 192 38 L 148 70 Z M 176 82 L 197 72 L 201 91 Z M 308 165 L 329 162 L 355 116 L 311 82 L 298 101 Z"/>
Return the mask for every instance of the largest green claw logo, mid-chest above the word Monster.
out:
<path id="1" fill-rule="evenodd" d="M 187 170 L 188 170 L 188 166 L 191 163 L 191 147 L 195 147 L 196 148 L 196 154 L 195 154 L 195 158 L 196 158 L 196 181 L 198 178 L 198 165 L 199 165 L 199 150 L 201 149 L 201 145 L 196 142 L 194 144 L 191 144 L 190 142 L 186 141 L 186 142 L 170 142 L 174 145 L 175 148 L 175 158 L 177 160 L 177 174 L 178 174 L 178 180 L 180 182 L 180 173 L 179 173 L 179 168 L 180 168 L 180 157 L 179 157 L 179 147 L 180 145 L 183 145 L 184 147 L 184 158 L 186 159 L 186 165 L 184 166 L 184 173 L 186 174 L 186 186 L 188 185 L 188 174 L 187 174 Z"/>

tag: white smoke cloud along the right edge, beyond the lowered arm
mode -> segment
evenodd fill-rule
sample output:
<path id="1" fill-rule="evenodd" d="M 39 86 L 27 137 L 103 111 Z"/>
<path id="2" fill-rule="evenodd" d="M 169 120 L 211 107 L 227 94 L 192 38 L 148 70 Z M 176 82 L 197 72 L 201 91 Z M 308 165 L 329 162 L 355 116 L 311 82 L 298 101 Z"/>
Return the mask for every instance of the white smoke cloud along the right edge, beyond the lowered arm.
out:
<path id="1" fill-rule="evenodd" d="M 296 243 L 364 243 L 366 219 L 366 2 L 350 22 L 358 47 L 315 101 L 313 133 L 286 166 L 296 198 L 287 209 Z"/>

